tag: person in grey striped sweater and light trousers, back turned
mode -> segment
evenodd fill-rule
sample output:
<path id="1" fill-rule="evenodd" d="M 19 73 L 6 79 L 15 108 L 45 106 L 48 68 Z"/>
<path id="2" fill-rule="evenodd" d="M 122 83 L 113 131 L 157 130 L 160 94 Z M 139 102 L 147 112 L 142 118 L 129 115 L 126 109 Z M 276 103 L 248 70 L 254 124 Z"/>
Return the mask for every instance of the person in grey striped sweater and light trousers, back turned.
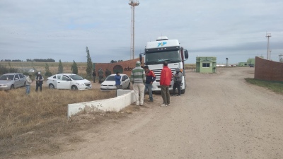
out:
<path id="1" fill-rule="evenodd" d="M 141 62 L 136 62 L 136 67 L 132 69 L 131 82 L 134 88 L 134 97 L 136 98 L 136 105 L 144 105 L 144 83 L 146 75 L 144 69 L 141 68 Z M 140 95 L 140 99 L 139 99 Z"/>

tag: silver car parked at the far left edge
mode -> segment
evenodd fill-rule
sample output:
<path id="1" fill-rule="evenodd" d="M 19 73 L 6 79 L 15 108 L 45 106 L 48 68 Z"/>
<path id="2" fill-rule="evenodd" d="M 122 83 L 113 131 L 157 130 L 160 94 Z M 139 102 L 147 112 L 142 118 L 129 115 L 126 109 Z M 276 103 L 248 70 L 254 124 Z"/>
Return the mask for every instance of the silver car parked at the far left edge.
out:
<path id="1" fill-rule="evenodd" d="M 23 73 L 6 73 L 0 77 L 0 90 L 11 90 L 25 86 Z"/>

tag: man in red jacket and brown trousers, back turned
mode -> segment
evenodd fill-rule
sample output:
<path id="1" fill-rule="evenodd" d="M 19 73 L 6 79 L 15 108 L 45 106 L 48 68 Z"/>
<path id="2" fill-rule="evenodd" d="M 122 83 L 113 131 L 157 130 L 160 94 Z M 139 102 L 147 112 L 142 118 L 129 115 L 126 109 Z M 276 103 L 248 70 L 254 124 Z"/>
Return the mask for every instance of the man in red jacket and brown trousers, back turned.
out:
<path id="1" fill-rule="evenodd" d="M 163 63 L 163 69 L 161 71 L 160 76 L 160 86 L 161 86 L 161 95 L 163 99 L 163 104 L 161 107 L 166 107 L 170 105 L 170 93 L 169 93 L 169 86 L 172 81 L 172 72 L 169 69 L 167 62 Z"/>

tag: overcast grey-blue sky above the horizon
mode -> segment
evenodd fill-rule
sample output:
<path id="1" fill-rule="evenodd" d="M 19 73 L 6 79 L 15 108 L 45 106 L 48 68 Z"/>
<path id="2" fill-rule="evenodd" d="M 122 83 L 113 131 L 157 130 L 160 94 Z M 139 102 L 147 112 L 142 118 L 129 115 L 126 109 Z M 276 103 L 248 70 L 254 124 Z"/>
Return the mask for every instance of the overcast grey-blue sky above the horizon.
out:
<path id="1" fill-rule="evenodd" d="M 54 59 L 95 63 L 130 59 L 127 0 L 1 0 L 0 59 Z M 217 64 L 283 54 L 282 0 L 140 0 L 134 9 L 134 58 L 159 36 L 177 39 L 196 57 Z"/>

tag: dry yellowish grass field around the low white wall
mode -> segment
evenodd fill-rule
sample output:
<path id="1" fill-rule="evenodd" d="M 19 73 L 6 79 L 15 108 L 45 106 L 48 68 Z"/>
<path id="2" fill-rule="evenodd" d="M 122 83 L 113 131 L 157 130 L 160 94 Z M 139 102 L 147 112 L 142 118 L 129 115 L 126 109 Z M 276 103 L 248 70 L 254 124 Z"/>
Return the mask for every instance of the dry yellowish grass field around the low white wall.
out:
<path id="1" fill-rule="evenodd" d="M 72 131 L 126 117 L 137 109 L 127 107 L 122 112 L 83 112 L 68 120 L 69 103 L 114 98 L 115 92 L 101 92 L 99 89 L 50 90 L 44 87 L 41 93 L 35 93 L 33 89 L 34 86 L 30 95 L 25 95 L 25 88 L 0 90 L 0 158 L 54 154 L 60 151 L 60 142 L 81 141 L 78 136 L 71 136 Z M 52 136 L 69 137 L 66 141 L 52 141 Z"/>

